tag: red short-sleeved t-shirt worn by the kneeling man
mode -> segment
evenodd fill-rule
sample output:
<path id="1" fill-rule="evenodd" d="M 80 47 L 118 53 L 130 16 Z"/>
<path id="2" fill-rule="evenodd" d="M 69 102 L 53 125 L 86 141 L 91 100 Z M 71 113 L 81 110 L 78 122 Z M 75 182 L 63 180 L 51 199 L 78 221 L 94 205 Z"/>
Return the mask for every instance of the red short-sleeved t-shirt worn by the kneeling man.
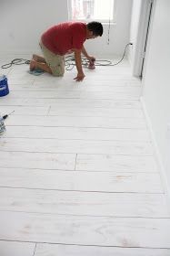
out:
<path id="1" fill-rule="evenodd" d="M 86 25 L 83 22 L 61 23 L 46 30 L 41 37 L 46 48 L 60 55 L 73 48 L 81 49 L 85 39 Z"/>

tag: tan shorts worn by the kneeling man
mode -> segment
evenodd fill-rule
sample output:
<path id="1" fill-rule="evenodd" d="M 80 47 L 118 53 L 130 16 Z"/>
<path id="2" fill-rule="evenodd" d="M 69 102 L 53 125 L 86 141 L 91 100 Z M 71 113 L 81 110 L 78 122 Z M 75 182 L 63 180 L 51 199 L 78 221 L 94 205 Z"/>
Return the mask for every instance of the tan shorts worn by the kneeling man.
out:
<path id="1" fill-rule="evenodd" d="M 39 43 L 43 55 L 46 60 L 46 64 L 52 70 L 55 77 L 61 77 L 65 73 L 65 56 L 57 55 L 51 52 L 49 49 L 45 48 L 42 42 Z"/>

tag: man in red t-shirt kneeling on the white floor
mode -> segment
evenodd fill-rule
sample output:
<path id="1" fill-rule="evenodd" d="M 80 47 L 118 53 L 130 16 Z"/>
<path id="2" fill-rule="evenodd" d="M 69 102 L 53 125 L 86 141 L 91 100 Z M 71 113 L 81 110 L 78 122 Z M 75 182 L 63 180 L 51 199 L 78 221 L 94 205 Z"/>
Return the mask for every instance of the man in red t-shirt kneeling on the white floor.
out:
<path id="1" fill-rule="evenodd" d="M 89 56 L 85 50 L 84 42 L 86 39 L 102 37 L 103 26 L 99 22 L 65 22 L 50 27 L 41 37 L 40 47 L 43 57 L 33 55 L 30 62 L 30 70 L 42 69 L 56 77 L 63 76 L 65 73 L 65 54 L 75 53 L 75 66 L 77 76 L 75 80 L 84 80 L 85 74 L 82 68 L 81 53 L 90 62 L 95 58 Z"/>

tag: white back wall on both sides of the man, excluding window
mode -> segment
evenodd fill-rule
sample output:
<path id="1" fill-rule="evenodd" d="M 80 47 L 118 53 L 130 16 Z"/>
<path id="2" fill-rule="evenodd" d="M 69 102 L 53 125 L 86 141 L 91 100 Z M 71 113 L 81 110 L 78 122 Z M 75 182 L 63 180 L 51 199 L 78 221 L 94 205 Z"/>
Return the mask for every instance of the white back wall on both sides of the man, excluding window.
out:
<path id="1" fill-rule="evenodd" d="M 103 37 L 87 42 L 91 53 L 122 55 L 129 42 L 132 0 L 117 0 L 116 26 L 108 26 Z M 32 53 L 39 50 L 44 30 L 68 19 L 66 0 L 0 0 L 0 53 Z"/>

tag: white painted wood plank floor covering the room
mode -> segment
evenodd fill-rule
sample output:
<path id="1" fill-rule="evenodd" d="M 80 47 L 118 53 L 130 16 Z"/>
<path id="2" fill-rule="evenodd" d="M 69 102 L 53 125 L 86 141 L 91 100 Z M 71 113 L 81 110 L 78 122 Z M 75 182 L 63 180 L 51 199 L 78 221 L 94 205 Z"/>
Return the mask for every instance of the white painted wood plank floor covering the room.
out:
<path id="1" fill-rule="evenodd" d="M 0 112 L 15 112 L 0 138 L 0 256 L 169 256 L 165 190 L 128 63 L 85 69 L 80 83 L 75 70 L 27 69 L 1 70 Z"/>

